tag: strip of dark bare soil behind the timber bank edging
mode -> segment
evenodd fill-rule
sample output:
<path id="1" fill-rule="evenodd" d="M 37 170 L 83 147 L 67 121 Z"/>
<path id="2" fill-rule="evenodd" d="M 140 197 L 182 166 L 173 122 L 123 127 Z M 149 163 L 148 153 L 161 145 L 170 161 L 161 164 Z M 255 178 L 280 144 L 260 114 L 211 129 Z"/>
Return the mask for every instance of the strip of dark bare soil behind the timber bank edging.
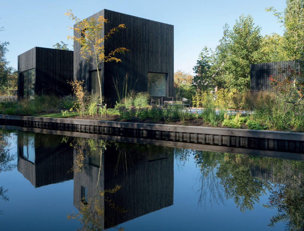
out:
<path id="1" fill-rule="evenodd" d="M 180 120 L 175 120 L 175 121 L 154 121 L 152 119 L 146 119 L 146 120 L 140 120 L 140 118 L 135 117 L 132 118 L 130 120 L 124 120 L 124 119 L 120 119 L 119 115 L 108 115 L 107 117 L 105 117 L 105 115 L 103 115 L 103 117 L 101 117 L 100 115 L 98 116 L 97 114 L 93 116 L 91 115 L 85 115 L 83 117 L 80 116 L 74 116 L 74 117 L 69 117 L 70 119 L 82 119 L 82 120 L 104 120 L 104 121 L 119 121 L 119 122 L 131 122 L 131 123 L 146 123 L 146 124 L 172 124 L 172 125 L 187 125 L 187 126 L 200 126 L 200 127 L 212 127 L 211 124 L 209 123 L 205 123 L 203 121 L 203 119 L 199 118 L 192 118 L 190 120 L 187 121 L 180 121 Z M 222 126 L 221 123 L 218 124 L 216 127 L 226 127 L 227 126 Z M 247 129 L 247 126 L 245 124 L 241 124 L 241 127 L 243 129 Z"/>

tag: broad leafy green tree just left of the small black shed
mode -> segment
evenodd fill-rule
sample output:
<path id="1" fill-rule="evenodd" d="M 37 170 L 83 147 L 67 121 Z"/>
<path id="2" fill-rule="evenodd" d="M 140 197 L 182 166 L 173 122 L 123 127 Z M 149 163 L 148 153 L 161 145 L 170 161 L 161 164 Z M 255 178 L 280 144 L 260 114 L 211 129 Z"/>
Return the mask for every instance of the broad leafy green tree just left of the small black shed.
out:
<path id="1" fill-rule="evenodd" d="M 224 26 L 223 38 L 216 47 L 217 73 L 226 88 L 239 91 L 250 87 L 250 64 L 259 62 L 254 53 L 261 47 L 261 27 L 254 26 L 251 15 L 240 16 L 233 29 Z"/>

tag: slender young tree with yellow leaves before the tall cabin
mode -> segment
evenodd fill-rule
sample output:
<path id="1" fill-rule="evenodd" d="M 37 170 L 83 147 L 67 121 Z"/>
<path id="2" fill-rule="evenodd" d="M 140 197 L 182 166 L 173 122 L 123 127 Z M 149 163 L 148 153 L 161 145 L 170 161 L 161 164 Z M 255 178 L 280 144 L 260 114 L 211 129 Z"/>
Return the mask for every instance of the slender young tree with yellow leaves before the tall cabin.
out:
<path id="1" fill-rule="evenodd" d="M 116 61 L 121 62 L 120 59 L 116 58 L 117 53 L 125 53 L 129 51 L 124 47 L 116 48 L 111 51 L 108 55 L 105 55 L 105 47 L 102 45 L 107 39 L 111 38 L 115 32 L 118 32 L 119 29 L 126 28 L 125 24 L 119 24 L 118 26 L 112 28 L 109 32 L 105 32 L 103 35 L 104 24 L 108 23 L 108 19 L 105 19 L 103 15 L 100 15 L 98 19 L 94 17 L 88 19 L 80 20 L 78 19 L 71 10 L 68 10 L 64 15 L 69 16 L 69 19 L 72 19 L 76 22 L 76 27 L 69 27 L 73 29 L 74 32 L 78 33 L 78 36 L 67 36 L 67 39 L 73 39 L 81 45 L 80 54 L 81 57 L 87 60 L 87 62 L 96 66 L 99 90 L 100 90 L 100 104 L 102 104 L 102 88 L 101 81 L 99 76 L 98 65 L 102 62 L 112 62 Z M 93 61 L 91 61 L 91 59 Z"/>

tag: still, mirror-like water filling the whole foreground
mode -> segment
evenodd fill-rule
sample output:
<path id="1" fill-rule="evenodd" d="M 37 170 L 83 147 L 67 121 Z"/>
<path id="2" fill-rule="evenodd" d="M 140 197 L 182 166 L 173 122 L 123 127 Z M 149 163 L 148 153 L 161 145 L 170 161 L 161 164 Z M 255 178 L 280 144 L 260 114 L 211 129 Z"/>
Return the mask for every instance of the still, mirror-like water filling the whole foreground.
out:
<path id="1" fill-rule="evenodd" d="M 304 163 L 0 130 L 0 230 L 302 230 Z"/>

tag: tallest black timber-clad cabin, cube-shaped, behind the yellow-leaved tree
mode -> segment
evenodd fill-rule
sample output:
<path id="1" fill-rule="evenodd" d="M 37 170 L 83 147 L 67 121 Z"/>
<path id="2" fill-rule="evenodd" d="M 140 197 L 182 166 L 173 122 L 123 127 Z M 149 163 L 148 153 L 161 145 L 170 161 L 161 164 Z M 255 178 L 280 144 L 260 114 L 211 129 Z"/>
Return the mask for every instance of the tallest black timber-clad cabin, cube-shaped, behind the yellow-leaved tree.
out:
<path id="1" fill-rule="evenodd" d="M 117 55 L 121 62 L 101 63 L 98 66 L 101 74 L 102 94 L 108 105 L 114 107 L 117 100 L 113 78 L 123 86 L 123 79 L 128 73 L 129 86 L 135 91 L 149 91 L 152 97 L 174 96 L 174 43 L 173 25 L 155 22 L 148 19 L 126 15 L 103 9 L 88 17 L 96 19 L 103 15 L 109 23 L 105 23 L 103 33 L 106 34 L 119 24 L 125 24 L 110 39 L 104 42 L 105 55 L 118 47 L 130 51 Z M 74 27 L 77 27 L 75 24 Z M 74 36 L 80 35 L 74 32 Z M 86 90 L 99 92 L 97 68 L 79 54 L 81 46 L 74 42 L 74 77 L 85 80 Z M 93 62 L 93 60 L 90 60 Z M 137 81 L 136 81 L 137 80 Z"/>

